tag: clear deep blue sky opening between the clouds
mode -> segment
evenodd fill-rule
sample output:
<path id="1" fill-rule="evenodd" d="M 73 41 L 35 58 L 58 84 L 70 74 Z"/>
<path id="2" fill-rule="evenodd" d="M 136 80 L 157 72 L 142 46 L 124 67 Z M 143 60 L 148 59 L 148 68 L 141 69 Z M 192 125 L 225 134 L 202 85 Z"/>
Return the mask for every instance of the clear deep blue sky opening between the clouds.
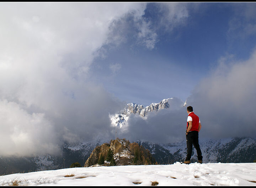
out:
<path id="1" fill-rule="evenodd" d="M 163 10 L 159 3 L 146 6 L 143 19 L 157 34 L 152 49 L 138 43 L 133 35 L 134 22 L 131 23 L 128 16 L 122 18 L 123 24 L 115 29 L 122 30 L 126 26 L 122 35 L 129 36 L 129 40 L 114 48 L 106 45 L 108 53 L 94 60 L 92 77 L 128 103 L 149 105 L 170 97 L 185 101 L 222 57 L 233 55 L 236 60 L 245 60 L 250 56 L 256 34 L 244 34 L 242 24 L 255 22 L 255 19 L 244 17 L 245 4 L 183 5 L 187 15 L 178 20 L 180 23 L 166 21 L 166 25 L 160 22 L 168 10 Z M 234 20 L 241 26 L 233 29 Z M 108 68 L 110 65 L 118 65 L 118 70 L 113 73 Z"/>

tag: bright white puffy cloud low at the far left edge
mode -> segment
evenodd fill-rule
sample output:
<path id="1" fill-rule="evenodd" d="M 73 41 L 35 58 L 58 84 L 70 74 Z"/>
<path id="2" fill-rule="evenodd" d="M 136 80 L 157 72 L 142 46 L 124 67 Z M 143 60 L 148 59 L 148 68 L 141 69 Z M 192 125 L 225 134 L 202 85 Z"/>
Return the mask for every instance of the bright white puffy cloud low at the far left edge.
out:
<path id="1" fill-rule="evenodd" d="M 28 114 L 20 105 L 0 100 L 0 155 L 58 154 L 52 122 L 44 114 Z"/>

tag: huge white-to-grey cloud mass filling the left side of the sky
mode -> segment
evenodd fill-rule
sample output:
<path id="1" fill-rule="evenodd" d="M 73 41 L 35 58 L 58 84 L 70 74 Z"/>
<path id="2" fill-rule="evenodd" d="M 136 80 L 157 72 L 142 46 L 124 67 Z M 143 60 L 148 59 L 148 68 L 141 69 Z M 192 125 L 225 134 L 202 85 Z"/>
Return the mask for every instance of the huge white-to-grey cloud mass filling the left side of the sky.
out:
<path id="1" fill-rule="evenodd" d="M 2 3 L 0 155 L 58 153 L 111 132 L 123 103 L 88 80 L 110 24 L 143 3 Z M 100 134 L 101 133 L 101 134 Z"/>

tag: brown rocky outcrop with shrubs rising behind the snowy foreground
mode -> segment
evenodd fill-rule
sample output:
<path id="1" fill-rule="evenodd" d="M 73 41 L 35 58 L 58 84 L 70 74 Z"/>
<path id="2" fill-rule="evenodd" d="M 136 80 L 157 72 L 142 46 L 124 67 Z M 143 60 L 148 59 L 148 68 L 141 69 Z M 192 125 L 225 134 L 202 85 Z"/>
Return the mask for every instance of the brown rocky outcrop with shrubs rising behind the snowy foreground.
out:
<path id="1" fill-rule="evenodd" d="M 146 150 L 143 146 L 139 146 L 138 143 L 130 143 L 126 139 L 116 139 L 111 140 L 110 144 L 105 143 L 97 146 L 85 162 L 84 167 L 98 165 L 100 156 L 102 155 L 106 159 L 109 149 L 113 152 L 113 158 L 117 166 L 154 163 L 149 150 Z M 105 161 L 102 166 L 110 166 L 110 162 Z"/>

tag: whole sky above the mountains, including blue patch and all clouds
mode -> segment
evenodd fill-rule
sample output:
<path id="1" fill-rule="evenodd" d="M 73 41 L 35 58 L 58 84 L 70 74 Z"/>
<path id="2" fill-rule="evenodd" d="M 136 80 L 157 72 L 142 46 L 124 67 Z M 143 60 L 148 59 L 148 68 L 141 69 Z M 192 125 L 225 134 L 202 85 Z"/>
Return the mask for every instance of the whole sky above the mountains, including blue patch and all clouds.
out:
<path id="1" fill-rule="evenodd" d="M 202 138 L 254 136 L 255 10 L 254 2 L 1 2 L 0 155 L 112 139 L 110 114 L 166 98 L 194 107 Z M 133 116 L 122 136 L 175 142 L 184 119 L 177 106 Z"/>

